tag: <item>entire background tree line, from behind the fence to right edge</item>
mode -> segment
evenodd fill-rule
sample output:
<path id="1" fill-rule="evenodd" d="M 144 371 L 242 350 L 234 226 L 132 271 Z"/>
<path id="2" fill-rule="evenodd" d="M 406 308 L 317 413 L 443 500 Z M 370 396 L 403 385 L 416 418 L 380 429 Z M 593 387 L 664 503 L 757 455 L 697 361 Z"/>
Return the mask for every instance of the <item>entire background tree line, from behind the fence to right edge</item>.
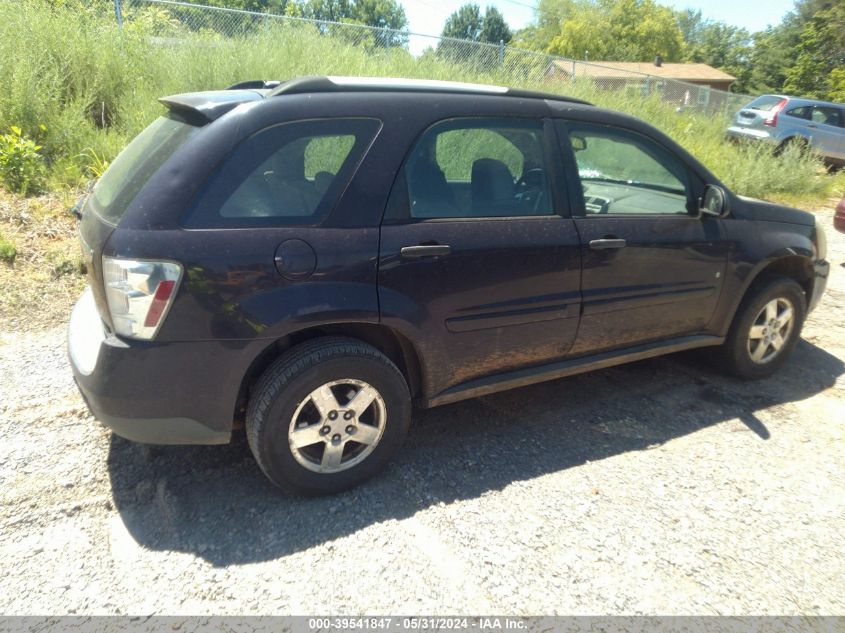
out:
<path id="1" fill-rule="evenodd" d="M 48 0 L 54 5 L 79 1 Z M 408 31 L 397 0 L 189 1 Z M 659 55 L 667 62 L 701 62 L 724 70 L 737 78 L 735 92 L 845 101 L 845 0 L 797 0 L 779 24 L 758 33 L 707 19 L 700 10 L 674 11 L 655 0 L 539 0 L 532 23 L 514 32 L 496 7 L 482 12 L 478 4 L 467 3 L 447 18 L 441 35 L 588 61 L 650 62 Z M 406 44 L 401 35 L 385 42 Z M 469 49 L 446 41 L 436 52 L 466 60 Z"/>

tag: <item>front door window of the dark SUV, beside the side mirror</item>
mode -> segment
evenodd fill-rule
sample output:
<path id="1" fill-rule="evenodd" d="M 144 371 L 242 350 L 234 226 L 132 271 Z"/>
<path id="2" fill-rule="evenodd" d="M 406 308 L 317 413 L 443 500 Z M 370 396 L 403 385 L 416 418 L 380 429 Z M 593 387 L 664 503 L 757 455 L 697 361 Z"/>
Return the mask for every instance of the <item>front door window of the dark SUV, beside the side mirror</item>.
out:
<path id="1" fill-rule="evenodd" d="M 569 136 L 587 215 L 686 215 L 689 174 L 654 141 L 605 126 L 573 124 Z"/>

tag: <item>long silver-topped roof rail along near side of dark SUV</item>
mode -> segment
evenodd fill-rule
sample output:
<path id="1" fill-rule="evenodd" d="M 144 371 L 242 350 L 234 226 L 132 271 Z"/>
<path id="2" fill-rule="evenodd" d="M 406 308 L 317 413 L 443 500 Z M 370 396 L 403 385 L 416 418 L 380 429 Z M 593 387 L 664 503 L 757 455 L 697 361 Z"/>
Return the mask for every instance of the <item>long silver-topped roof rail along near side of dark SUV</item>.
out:
<path id="1" fill-rule="evenodd" d="M 588 101 L 565 97 L 563 95 L 506 88 L 489 84 L 472 84 L 457 81 L 437 81 L 432 79 L 402 79 L 394 77 L 334 77 L 314 75 L 298 77 L 281 83 L 268 96 L 286 94 L 304 94 L 315 92 L 440 92 L 449 94 L 501 95 L 531 99 L 550 99 L 567 101 L 583 105 L 593 105 Z"/>

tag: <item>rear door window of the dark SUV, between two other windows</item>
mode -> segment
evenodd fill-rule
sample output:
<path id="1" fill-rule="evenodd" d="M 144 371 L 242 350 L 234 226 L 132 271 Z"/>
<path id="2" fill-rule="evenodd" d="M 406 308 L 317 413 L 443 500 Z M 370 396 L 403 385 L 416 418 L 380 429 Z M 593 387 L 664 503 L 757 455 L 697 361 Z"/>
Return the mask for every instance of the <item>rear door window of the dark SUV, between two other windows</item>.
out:
<path id="1" fill-rule="evenodd" d="M 423 134 L 403 175 L 412 218 L 552 213 L 540 121 L 443 122 Z"/>

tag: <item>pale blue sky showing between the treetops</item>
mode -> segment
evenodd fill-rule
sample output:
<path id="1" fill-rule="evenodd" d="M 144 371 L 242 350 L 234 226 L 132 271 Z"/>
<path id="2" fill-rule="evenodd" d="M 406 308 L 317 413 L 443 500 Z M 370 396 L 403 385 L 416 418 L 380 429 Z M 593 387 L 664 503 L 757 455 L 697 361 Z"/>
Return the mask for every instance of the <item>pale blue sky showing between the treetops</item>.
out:
<path id="1" fill-rule="evenodd" d="M 521 29 L 531 22 L 534 17 L 533 7 L 537 3 L 537 0 L 399 0 L 399 3 L 405 7 L 405 15 L 408 17 L 412 33 L 439 35 L 443 31 L 446 18 L 461 5 L 470 1 L 479 4 L 482 11 L 488 5 L 495 6 L 514 30 Z M 741 26 L 752 33 L 762 31 L 768 25 L 778 24 L 794 4 L 794 0 L 767 0 L 765 3 L 748 0 L 709 0 L 707 2 L 658 0 L 658 2 L 677 10 L 701 9 L 705 18 Z M 411 38 L 409 46 L 411 52 L 416 54 L 431 43 L 422 38 Z"/>

